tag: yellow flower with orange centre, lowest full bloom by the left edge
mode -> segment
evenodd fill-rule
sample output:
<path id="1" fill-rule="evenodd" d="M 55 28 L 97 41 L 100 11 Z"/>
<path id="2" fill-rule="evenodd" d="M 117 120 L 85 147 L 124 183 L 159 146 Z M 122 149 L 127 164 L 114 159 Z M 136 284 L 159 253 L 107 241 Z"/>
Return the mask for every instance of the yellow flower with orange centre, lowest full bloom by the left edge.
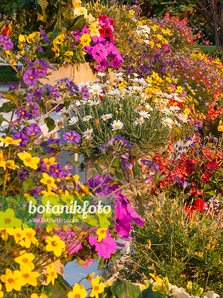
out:
<path id="1" fill-rule="evenodd" d="M 21 277 L 21 272 L 19 270 L 12 271 L 7 268 L 5 274 L 0 276 L 0 279 L 5 283 L 5 288 L 7 292 L 11 292 L 13 289 L 15 291 L 21 290 L 21 284 L 18 282 L 18 278 Z"/>

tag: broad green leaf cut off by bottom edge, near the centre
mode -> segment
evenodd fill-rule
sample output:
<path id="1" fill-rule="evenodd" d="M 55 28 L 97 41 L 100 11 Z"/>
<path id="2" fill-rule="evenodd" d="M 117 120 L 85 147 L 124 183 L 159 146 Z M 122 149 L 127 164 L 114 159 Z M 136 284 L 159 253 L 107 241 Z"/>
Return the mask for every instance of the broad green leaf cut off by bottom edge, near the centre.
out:
<path id="1" fill-rule="evenodd" d="M 142 293 L 139 287 L 136 287 L 132 283 L 117 278 L 117 280 L 111 285 L 111 292 L 118 298 L 142 298 Z"/>

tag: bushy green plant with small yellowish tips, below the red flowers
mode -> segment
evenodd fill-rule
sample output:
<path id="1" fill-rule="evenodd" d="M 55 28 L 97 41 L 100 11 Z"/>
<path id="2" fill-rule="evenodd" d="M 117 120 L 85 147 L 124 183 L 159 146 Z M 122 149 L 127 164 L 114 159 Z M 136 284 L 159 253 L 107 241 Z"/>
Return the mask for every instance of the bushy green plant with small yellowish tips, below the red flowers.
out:
<path id="1" fill-rule="evenodd" d="M 168 276 L 170 283 L 191 281 L 221 294 L 223 229 L 205 216 L 193 217 L 184 210 L 182 200 L 180 196 L 170 200 L 164 194 L 153 197 L 146 223 L 134 227 L 135 253 L 120 274 L 141 281 L 155 272 Z"/>

